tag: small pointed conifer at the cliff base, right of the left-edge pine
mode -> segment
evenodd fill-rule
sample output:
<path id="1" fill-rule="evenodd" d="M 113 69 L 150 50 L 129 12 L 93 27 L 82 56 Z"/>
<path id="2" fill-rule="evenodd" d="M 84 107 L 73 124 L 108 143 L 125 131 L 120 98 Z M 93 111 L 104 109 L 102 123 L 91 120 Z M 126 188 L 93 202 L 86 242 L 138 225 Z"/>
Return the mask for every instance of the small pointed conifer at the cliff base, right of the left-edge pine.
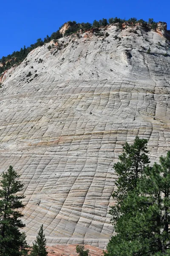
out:
<path id="1" fill-rule="evenodd" d="M 47 256 L 48 252 L 46 251 L 46 239 L 43 235 L 43 225 L 40 227 L 40 230 L 37 235 L 37 240 L 33 243 L 32 251 L 30 256 Z"/>

